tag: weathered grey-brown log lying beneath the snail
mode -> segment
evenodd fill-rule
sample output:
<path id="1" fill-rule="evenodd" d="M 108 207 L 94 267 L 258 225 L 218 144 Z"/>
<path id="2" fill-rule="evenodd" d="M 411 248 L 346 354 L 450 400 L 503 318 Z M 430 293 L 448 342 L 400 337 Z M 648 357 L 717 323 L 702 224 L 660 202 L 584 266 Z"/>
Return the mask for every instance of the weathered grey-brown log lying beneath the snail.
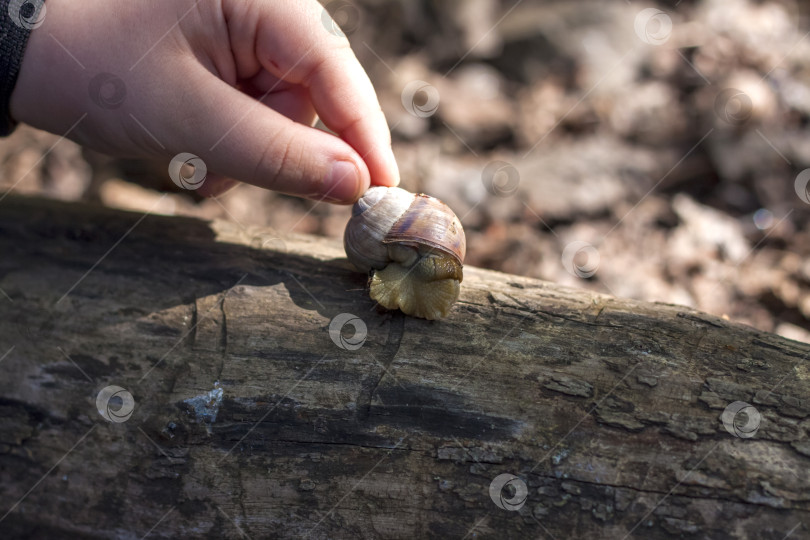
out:
<path id="1" fill-rule="evenodd" d="M 0 204 L 4 538 L 810 535 L 806 344 L 475 268 L 428 322 L 378 312 L 334 242 L 141 218 Z"/>

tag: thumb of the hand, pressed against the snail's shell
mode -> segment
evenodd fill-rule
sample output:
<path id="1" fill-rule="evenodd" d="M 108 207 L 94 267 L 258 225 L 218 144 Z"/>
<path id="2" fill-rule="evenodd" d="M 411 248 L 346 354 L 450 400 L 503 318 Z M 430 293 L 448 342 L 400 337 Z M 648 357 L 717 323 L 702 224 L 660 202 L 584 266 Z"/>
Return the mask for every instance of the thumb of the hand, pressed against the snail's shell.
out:
<path id="1" fill-rule="evenodd" d="M 350 204 L 369 187 L 363 159 L 346 142 L 276 112 L 202 70 L 181 152 L 227 176 L 289 195 Z M 188 98 L 188 96 L 186 96 Z M 189 124 L 204 126 L 189 129 Z M 179 170 L 179 168 L 178 168 Z M 201 187 L 201 186 L 199 186 Z"/>

